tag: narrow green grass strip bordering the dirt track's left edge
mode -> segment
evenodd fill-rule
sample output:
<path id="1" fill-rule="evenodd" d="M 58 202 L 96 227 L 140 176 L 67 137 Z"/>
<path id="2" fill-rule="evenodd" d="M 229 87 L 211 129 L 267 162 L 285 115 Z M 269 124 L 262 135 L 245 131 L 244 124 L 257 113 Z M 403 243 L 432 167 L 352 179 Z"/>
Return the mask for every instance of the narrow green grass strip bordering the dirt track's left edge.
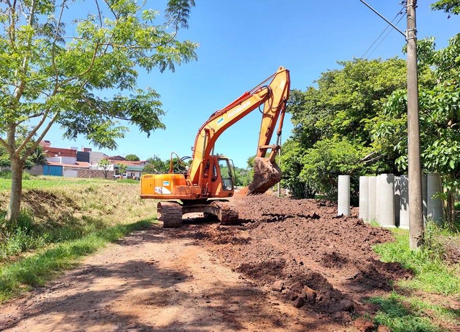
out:
<path id="1" fill-rule="evenodd" d="M 19 295 L 31 286 L 40 286 L 60 271 L 71 269 L 79 259 L 114 242 L 124 235 L 152 225 L 153 219 L 130 224 L 118 224 L 91 232 L 80 239 L 68 240 L 55 246 L 42 248 L 32 256 L 0 268 L 0 302 Z"/>

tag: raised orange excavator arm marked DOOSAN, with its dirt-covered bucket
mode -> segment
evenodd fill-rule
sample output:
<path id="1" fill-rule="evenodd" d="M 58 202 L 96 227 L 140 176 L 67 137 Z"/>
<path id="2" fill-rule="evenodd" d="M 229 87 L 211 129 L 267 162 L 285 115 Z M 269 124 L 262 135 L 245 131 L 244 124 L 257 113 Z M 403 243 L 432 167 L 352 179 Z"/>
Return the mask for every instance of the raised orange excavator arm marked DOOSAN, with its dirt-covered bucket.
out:
<path id="1" fill-rule="evenodd" d="M 283 126 L 286 102 L 289 98 L 289 70 L 280 67 L 276 73 L 245 92 L 240 98 L 222 110 L 211 115 L 198 131 L 193 147 L 193 161 L 189 170 L 188 181 L 198 184 L 203 181 L 205 164 L 210 160 L 217 138 L 233 124 L 256 108 L 262 112 L 262 123 L 254 165 L 254 181 L 249 185 L 249 193 L 264 193 L 269 187 L 281 180 L 281 170 L 274 161 L 278 151 Z M 262 108 L 263 106 L 263 108 Z M 269 146 L 278 120 L 279 129 L 277 145 Z M 270 156 L 265 155 L 271 149 Z"/>

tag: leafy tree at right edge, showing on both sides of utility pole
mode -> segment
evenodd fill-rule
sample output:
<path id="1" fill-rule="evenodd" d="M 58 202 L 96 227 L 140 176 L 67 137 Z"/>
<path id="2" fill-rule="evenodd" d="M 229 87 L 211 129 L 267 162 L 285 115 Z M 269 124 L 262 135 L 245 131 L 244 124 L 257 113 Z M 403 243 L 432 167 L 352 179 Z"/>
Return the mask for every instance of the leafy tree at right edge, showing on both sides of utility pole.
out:
<path id="1" fill-rule="evenodd" d="M 426 173 L 442 175 L 446 220 L 455 220 L 455 191 L 460 186 L 460 33 L 445 49 L 434 50 L 434 38 L 418 41 L 421 66 L 434 68 L 436 84 L 420 88 L 422 167 Z M 392 142 L 398 153 L 396 164 L 407 165 L 407 94 L 392 93 L 375 124 L 376 142 Z M 383 145 L 383 144 L 382 144 Z"/>

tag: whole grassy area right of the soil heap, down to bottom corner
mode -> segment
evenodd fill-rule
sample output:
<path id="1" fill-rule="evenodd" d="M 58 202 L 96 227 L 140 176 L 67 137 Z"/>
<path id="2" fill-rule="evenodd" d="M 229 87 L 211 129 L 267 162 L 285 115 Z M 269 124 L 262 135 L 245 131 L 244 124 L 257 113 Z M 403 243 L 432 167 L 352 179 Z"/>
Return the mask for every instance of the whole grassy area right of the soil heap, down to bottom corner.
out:
<path id="1" fill-rule="evenodd" d="M 392 231 L 396 241 L 380 244 L 374 250 L 383 262 L 400 262 L 415 276 L 395 282 L 388 296 L 369 299 L 380 305 L 373 317 L 375 322 L 395 332 L 459 330 L 460 310 L 452 303 L 460 300 L 460 266 L 442 258 L 442 247 L 428 243 L 422 250 L 412 251 L 408 231 Z"/>

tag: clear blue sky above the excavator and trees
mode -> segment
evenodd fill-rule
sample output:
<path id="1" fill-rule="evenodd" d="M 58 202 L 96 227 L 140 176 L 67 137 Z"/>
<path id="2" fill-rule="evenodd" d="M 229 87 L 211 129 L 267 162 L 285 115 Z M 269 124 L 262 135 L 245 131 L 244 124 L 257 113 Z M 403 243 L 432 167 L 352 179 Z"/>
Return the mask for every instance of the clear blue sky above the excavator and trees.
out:
<path id="1" fill-rule="evenodd" d="M 390 20 L 402 8 L 396 0 L 367 3 Z M 439 49 L 460 31 L 460 17 L 447 19 L 444 12 L 431 12 L 431 3 L 419 1 L 418 37 L 436 37 Z M 147 7 L 162 11 L 165 4 L 166 0 L 150 1 Z M 79 15 L 87 13 L 88 9 L 78 6 Z M 69 11 L 67 15 L 70 14 Z M 403 18 L 399 29 L 405 31 L 405 24 Z M 337 60 L 361 57 L 387 26 L 359 0 L 196 0 L 189 25 L 190 29 L 181 30 L 178 37 L 200 43 L 198 61 L 176 66 L 175 73 L 140 72 L 139 76 L 139 87 L 149 86 L 161 95 L 163 109 L 167 111 L 163 117 L 166 130 L 155 131 L 147 138 L 136 127 L 130 127 L 126 137 L 118 140 L 116 151 L 92 147 L 94 150 L 109 155 L 134 153 L 141 159 L 154 154 L 167 159 L 173 151 L 191 156 L 196 133 L 209 115 L 263 81 L 279 66 L 290 70 L 291 89 L 305 89 L 314 85 L 321 72 L 338 68 Z M 404 37 L 393 30 L 370 58 L 405 58 L 401 53 L 404 44 Z M 107 92 L 99 95 L 108 96 Z M 259 129 L 260 113 L 254 111 L 219 137 L 215 151 L 245 167 L 246 159 L 256 153 Z M 287 116 L 283 141 L 291 129 Z M 44 139 L 54 147 L 91 147 L 83 136 L 76 141 L 64 140 L 62 133 L 59 126 L 54 126 Z M 275 138 L 272 140 L 274 143 Z"/>

